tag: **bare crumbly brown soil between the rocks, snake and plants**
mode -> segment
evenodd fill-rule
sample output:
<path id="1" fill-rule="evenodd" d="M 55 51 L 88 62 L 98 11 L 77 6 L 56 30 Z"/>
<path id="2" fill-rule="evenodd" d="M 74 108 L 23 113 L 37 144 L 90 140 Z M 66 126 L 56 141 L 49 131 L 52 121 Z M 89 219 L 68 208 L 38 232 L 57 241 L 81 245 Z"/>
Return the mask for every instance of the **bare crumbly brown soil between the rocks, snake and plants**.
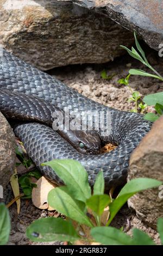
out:
<path id="1" fill-rule="evenodd" d="M 149 49 L 146 45 L 144 48 L 147 52 L 149 63 L 160 73 L 163 74 L 163 58 L 158 56 L 158 52 Z M 50 70 L 48 73 L 55 75 L 59 80 L 67 84 L 79 93 L 102 103 L 106 106 L 118 108 L 122 111 L 130 111 L 134 108 L 134 103 L 128 102 L 131 92 L 128 87 L 120 85 L 117 80 L 128 75 L 130 68 L 143 69 L 145 68 L 138 60 L 134 60 L 126 55 L 117 58 L 114 62 L 105 64 L 84 64 L 71 65 L 62 68 Z M 111 80 L 101 78 L 102 70 L 106 70 L 108 75 L 114 75 Z M 134 90 L 138 90 L 142 96 L 163 91 L 163 83 L 150 77 L 131 76 L 130 86 Z M 150 111 L 151 109 L 148 109 Z M 11 194 L 11 191 L 10 191 Z M 13 196 L 11 196 L 13 198 Z M 8 197 L 9 201 L 10 197 Z M 16 215 L 16 206 L 10 208 L 12 216 L 12 231 L 10 235 L 9 245 L 34 245 L 26 237 L 26 228 L 28 225 L 40 217 L 47 217 L 51 214 L 46 210 L 36 209 L 31 200 L 21 200 L 20 215 Z M 127 234 L 131 234 L 131 229 L 139 228 L 151 236 L 156 243 L 160 243 L 158 234 L 152 228 L 147 227 L 136 217 L 135 212 L 129 210 L 127 204 L 123 206 L 118 215 L 115 217 L 112 224 L 114 227 L 128 230 Z M 43 245 L 58 245 L 59 242 L 52 243 L 37 243 Z"/>

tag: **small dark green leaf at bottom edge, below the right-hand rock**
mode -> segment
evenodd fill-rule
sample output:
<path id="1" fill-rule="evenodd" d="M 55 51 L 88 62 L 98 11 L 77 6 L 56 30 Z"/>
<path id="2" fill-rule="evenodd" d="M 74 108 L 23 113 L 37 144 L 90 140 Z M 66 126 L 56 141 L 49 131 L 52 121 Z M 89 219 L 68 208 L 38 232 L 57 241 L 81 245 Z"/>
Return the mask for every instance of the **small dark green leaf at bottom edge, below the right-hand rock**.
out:
<path id="1" fill-rule="evenodd" d="M 156 245 L 145 232 L 140 229 L 133 229 L 133 242 L 135 245 Z"/>

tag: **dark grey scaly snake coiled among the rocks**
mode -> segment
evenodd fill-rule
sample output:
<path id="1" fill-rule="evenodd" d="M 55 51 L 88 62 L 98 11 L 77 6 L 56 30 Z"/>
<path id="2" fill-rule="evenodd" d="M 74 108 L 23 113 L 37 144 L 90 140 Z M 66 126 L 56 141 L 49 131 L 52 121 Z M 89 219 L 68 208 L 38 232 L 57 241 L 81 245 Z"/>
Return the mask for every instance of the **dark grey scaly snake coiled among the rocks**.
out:
<path id="1" fill-rule="evenodd" d="M 70 134 L 66 134 L 70 139 L 65 139 L 65 130 L 59 133 L 52 128 L 52 112 L 55 109 L 64 112 L 65 108 L 83 116 L 90 111 L 110 113 L 109 127 L 106 127 L 110 131 L 105 135 L 103 128 L 95 131 L 96 121 L 92 120 L 94 130 L 70 131 Z M 103 171 L 106 189 L 125 184 L 130 155 L 152 127 L 152 123 L 145 120 L 142 114 L 120 111 L 88 99 L 4 48 L 0 57 L 0 111 L 7 119 L 17 118 L 21 121 L 14 127 L 15 135 L 21 139 L 27 154 L 41 173 L 58 185 L 62 184 L 62 180 L 55 169 L 42 166 L 43 162 L 53 159 L 77 160 L 86 169 L 91 186 L 95 184 L 100 170 Z M 99 154 L 100 142 L 112 143 L 117 147 Z M 92 149 L 92 146 L 95 148 Z"/>

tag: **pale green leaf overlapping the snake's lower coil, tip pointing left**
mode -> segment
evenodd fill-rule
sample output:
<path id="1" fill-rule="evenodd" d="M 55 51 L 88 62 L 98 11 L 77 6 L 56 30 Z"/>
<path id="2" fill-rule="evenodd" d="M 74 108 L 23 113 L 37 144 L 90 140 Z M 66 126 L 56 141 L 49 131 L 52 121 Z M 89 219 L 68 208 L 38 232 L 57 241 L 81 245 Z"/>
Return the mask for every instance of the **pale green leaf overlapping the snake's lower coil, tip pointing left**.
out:
<path id="1" fill-rule="evenodd" d="M 50 166 L 67 185 L 72 196 L 82 202 L 91 196 L 88 175 L 81 163 L 72 159 L 52 160 L 42 165 Z"/>

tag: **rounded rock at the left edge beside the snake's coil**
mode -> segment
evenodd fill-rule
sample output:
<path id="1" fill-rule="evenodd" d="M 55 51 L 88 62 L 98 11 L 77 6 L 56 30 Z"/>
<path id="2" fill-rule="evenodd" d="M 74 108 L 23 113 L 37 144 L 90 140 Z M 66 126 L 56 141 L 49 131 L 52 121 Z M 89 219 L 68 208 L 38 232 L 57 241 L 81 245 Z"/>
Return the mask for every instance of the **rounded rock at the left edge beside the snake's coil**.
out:
<path id="1" fill-rule="evenodd" d="M 2 187 L 4 190 L 8 184 L 14 170 L 14 164 L 15 136 L 8 121 L 0 112 L 0 191 L 2 191 Z"/>

